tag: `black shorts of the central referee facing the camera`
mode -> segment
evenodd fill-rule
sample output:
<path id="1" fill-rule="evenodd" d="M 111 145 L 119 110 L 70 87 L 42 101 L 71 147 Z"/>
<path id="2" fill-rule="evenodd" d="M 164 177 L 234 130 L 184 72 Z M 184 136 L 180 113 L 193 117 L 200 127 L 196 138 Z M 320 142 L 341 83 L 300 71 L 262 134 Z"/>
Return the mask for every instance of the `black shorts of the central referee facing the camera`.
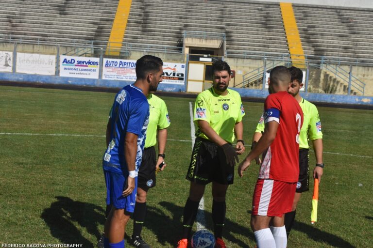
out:
<path id="1" fill-rule="evenodd" d="M 233 184 L 234 166 L 226 163 L 223 149 L 217 144 L 197 138 L 186 179 L 197 184 L 206 185 L 210 182 Z"/>

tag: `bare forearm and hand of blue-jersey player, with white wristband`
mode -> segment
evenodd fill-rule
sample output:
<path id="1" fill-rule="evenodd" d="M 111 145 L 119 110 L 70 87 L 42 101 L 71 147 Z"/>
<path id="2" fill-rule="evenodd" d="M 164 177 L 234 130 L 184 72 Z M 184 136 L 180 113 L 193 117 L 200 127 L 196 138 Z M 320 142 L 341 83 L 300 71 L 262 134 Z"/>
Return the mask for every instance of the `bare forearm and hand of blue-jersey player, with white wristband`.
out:
<path id="1" fill-rule="evenodd" d="M 124 145 L 124 155 L 127 163 L 128 171 L 135 171 L 136 169 L 136 154 L 137 154 L 137 135 L 126 132 Z M 123 196 L 127 196 L 135 189 L 135 178 L 128 176 L 127 188 L 123 191 Z"/>

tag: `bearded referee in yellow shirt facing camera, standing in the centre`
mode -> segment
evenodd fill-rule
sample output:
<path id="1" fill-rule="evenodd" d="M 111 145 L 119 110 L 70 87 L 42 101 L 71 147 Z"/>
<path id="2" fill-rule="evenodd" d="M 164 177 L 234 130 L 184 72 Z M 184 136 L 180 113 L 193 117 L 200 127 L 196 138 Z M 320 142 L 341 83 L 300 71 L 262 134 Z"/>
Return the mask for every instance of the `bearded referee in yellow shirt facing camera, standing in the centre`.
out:
<path id="1" fill-rule="evenodd" d="M 242 117 L 245 115 L 241 97 L 228 89 L 231 69 L 227 62 L 212 65 L 213 86 L 197 96 L 194 122 L 198 125 L 186 179 L 190 181 L 189 197 L 184 207 L 183 236 L 178 248 L 186 248 L 191 229 L 203 197 L 205 186 L 212 182 L 212 218 L 215 248 L 225 248 L 222 230 L 225 221 L 225 195 L 233 184 L 235 159 L 245 151 L 242 140 Z M 237 139 L 234 146 L 232 144 Z"/>

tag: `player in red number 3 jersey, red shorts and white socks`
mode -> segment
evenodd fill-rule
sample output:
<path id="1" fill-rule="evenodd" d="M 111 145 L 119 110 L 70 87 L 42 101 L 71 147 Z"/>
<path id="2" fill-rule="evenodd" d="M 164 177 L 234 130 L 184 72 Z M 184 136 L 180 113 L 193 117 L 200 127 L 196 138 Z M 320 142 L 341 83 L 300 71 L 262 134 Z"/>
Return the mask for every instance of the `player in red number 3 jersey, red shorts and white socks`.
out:
<path id="1" fill-rule="evenodd" d="M 286 248 L 284 214 L 291 211 L 299 175 L 299 132 L 303 112 L 287 93 L 290 72 L 285 66 L 271 70 L 270 95 L 264 103 L 264 134 L 238 167 L 243 176 L 251 160 L 267 150 L 254 189 L 251 228 L 258 248 Z"/>

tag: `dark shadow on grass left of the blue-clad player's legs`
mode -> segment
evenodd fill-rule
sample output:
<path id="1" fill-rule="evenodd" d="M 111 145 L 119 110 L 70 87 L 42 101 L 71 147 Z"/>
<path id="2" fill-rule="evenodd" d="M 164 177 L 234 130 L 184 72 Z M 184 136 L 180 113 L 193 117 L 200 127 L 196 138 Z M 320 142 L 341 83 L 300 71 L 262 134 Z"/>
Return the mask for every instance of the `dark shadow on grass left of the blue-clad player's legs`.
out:
<path id="1" fill-rule="evenodd" d="M 53 237 L 65 244 L 82 244 L 83 247 L 93 248 L 95 245 L 87 240 L 81 233 L 80 228 L 85 228 L 88 233 L 99 238 L 100 231 L 98 223 L 105 222 L 104 209 L 102 207 L 73 201 L 68 197 L 56 196 L 57 202 L 51 203 L 49 208 L 44 209 L 41 218 L 51 229 Z"/>

